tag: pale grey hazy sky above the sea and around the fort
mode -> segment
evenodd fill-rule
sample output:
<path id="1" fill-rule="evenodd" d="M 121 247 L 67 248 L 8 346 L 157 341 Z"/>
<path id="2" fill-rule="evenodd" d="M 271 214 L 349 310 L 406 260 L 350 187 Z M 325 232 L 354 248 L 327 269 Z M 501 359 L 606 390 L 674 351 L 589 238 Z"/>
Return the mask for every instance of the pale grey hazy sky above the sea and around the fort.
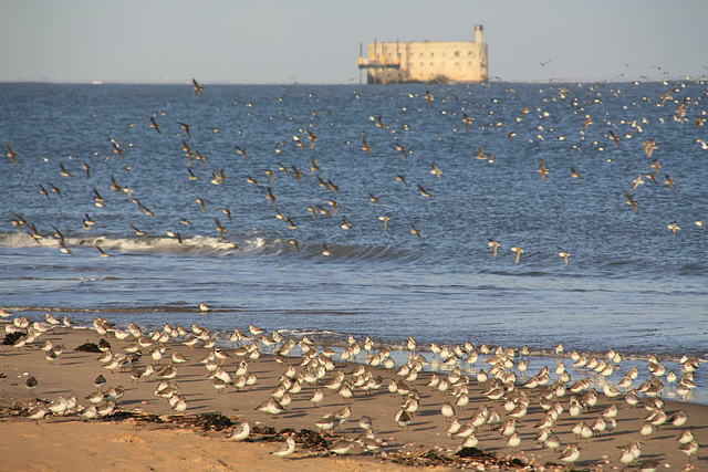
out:
<path id="1" fill-rule="evenodd" d="M 699 76 L 707 18 L 707 0 L 1 0 L 0 81 L 358 82 L 360 43 L 467 41 L 476 23 L 490 77 Z"/>

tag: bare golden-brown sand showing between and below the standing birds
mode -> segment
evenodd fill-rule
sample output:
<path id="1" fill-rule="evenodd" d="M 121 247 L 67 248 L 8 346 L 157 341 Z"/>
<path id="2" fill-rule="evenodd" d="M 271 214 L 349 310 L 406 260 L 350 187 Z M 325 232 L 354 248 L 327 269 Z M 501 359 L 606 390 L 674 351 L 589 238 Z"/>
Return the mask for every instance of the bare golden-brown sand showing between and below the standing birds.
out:
<path id="1" fill-rule="evenodd" d="M 0 325 L 2 326 L 2 325 Z M 483 426 L 477 429 L 478 448 L 493 453 L 494 460 L 483 463 L 477 460 L 462 460 L 454 455 L 460 449 L 462 439 L 446 434 L 449 422 L 440 413 L 445 401 L 456 401 L 448 391 L 446 395 L 431 391 L 426 386 L 431 374 L 420 373 L 418 378 L 407 384 L 419 392 L 419 410 L 406 428 L 400 428 L 394 421 L 394 415 L 404 401 L 396 394 L 388 392 L 389 379 L 400 380 L 394 370 L 365 366 L 374 376 L 382 376 L 381 389 L 374 394 L 355 391 L 351 401 L 344 400 L 337 392 L 324 388 L 334 373 L 327 373 L 319 385 L 311 386 L 303 382 L 288 410 L 277 417 L 256 410 L 267 400 L 270 392 L 279 385 L 279 378 L 288 366 L 292 365 L 302 371 L 302 357 L 289 357 L 287 364 L 278 364 L 272 355 L 262 354 L 260 358 L 250 360 L 249 373 L 254 373 L 258 381 L 252 389 L 237 390 L 228 386 L 218 394 L 212 381 L 207 378 L 208 371 L 199 363 L 208 352 L 205 347 L 190 349 L 179 342 L 166 343 L 165 357 L 160 366 L 170 364 L 173 350 L 186 356 L 189 361 L 177 367 L 177 376 L 173 382 L 177 384 L 178 394 L 186 400 L 187 409 L 177 413 L 168 400 L 157 397 L 155 390 L 159 380 L 153 375 L 149 381 L 133 381 L 129 371 L 112 371 L 97 360 L 100 354 L 75 350 L 77 346 L 90 342 L 98 343 L 101 338 L 112 345 L 114 353 L 124 353 L 124 348 L 135 339 L 116 339 L 111 333 L 98 335 L 94 329 L 69 329 L 56 327 L 39 337 L 34 343 L 24 347 L 4 345 L 0 350 L 0 439 L 3 453 L 0 459 L 0 470 L 306 470 L 306 471 L 339 471 L 339 470 L 402 470 L 409 469 L 408 464 L 427 465 L 428 469 L 469 468 L 472 470 L 499 470 L 513 468 L 513 458 L 518 458 L 533 470 L 553 470 L 564 468 L 559 461 L 560 452 L 543 449 L 534 438 L 539 429 L 534 426 L 545 416 L 540 405 L 540 389 L 525 389 L 520 386 L 517 391 L 525 391 L 530 399 L 528 413 L 517 421 L 521 444 L 512 453 L 507 439 L 498 429 Z M 53 363 L 45 360 L 45 352 L 41 350 L 44 342 L 64 346 L 63 353 Z M 260 343 L 259 343 L 260 344 Z M 145 367 L 155 364 L 149 356 L 153 348 L 144 349 L 143 358 L 137 364 Z M 225 350 L 233 357 L 221 366 L 233 375 L 238 358 L 229 346 Z M 261 345 L 261 353 L 267 349 Z M 300 354 L 300 349 L 293 349 Z M 431 354 L 426 353 L 428 359 Z M 363 359 L 363 353 L 360 354 Z M 553 363 L 553 359 L 550 359 Z M 478 365 L 482 361 L 482 356 Z M 336 370 L 342 370 L 351 378 L 351 373 L 360 364 L 335 363 Z M 553 366 L 549 366 L 553 367 Z M 583 378 L 587 373 L 571 373 L 574 381 Z M 697 373 L 700 374 L 700 373 Z M 103 375 L 106 378 L 104 390 L 122 385 L 125 394 L 117 401 L 118 415 L 85 420 L 80 411 L 90 401 L 86 397 L 96 391 L 94 379 Z M 446 376 L 447 374 L 440 376 Z M 554 376 L 553 374 L 551 374 Z M 30 392 L 25 388 L 27 379 L 33 376 L 39 385 Z M 310 401 L 315 388 L 324 390 L 324 399 L 317 406 Z M 48 415 L 39 421 L 25 418 L 27 411 L 39 402 L 51 402 L 60 397 L 70 398 L 75 395 L 79 399 L 76 411 L 65 415 Z M 591 411 L 583 410 L 579 417 L 571 418 L 568 412 L 570 391 L 561 399 L 564 411 L 553 427 L 562 444 L 576 443 L 581 455 L 573 469 L 613 470 L 620 469 L 620 447 L 641 440 L 639 429 L 644 418 L 649 413 L 642 398 L 638 408 L 629 408 L 623 397 L 614 400 L 600 394 L 597 405 Z M 506 419 L 503 400 L 492 401 L 482 396 L 482 388 L 471 376 L 469 381 L 470 402 L 465 409 L 457 408 L 456 418 L 467 421 L 472 413 L 486 405 L 494 409 Z M 571 428 L 577 421 L 592 424 L 595 419 L 611 405 L 618 408 L 617 426 L 612 432 L 604 432 L 591 439 L 577 440 Z M 373 419 L 373 430 L 376 440 L 381 442 L 381 450 L 376 454 L 365 452 L 358 444 L 354 444 L 351 452 L 343 457 L 333 457 L 322 447 L 306 448 L 301 441 L 289 459 L 271 455 L 283 441 L 283 429 L 294 431 L 317 431 L 315 421 L 326 415 L 332 415 L 343 407 L 350 406 L 352 415 L 334 434 L 324 434 L 327 444 L 341 438 L 356 438 L 363 430 L 358 419 L 366 415 Z M 677 437 L 683 429 L 690 429 L 699 444 L 707 444 L 708 407 L 688 402 L 666 401 L 664 411 L 670 417 L 678 410 L 688 413 L 688 421 L 683 428 L 665 423 L 643 440 L 642 455 L 632 462 L 631 466 L 638 470 L 644 461 L 654 459 L 658 463 L 657 470 L 708 469 L 707 457 L 702 449 L 688 461 L 687 455 L 679 450 Z M 128 415 L 131 412 L 131 415 Z M 232 427 L 220 429 L 219 424 L 205 428 L 197 419 L 204 415 L 218 412 L 231 422 L 248 421 L 261 433 L 253 433 L 248 442 L 228 441 L 227 434 Z M 142 415 L 138 415 L 142 413 Z M 222 419 L 221 417 L 215 417 Z M 204 422 L 204 421 L 202 421 Z M 201 426 L 200 426 L 201 424 Z M 270 427 L 271 429 L 268 429 Z M 428 459 L 433 459 L 431 461 Z M 447 462 L 445 458 L 454 459 Z M 504 461 L 510 465 L 503 465 Z M 501 465 L 498 465 L 501 463 Z M 519 462 L 517 462 L 519 463 Z"/>

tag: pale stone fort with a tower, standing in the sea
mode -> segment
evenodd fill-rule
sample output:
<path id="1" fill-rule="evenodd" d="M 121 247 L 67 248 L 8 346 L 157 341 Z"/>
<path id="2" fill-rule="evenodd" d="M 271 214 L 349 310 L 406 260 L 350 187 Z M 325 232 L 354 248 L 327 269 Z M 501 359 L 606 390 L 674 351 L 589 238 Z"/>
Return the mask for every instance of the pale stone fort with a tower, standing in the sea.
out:
<path id="1" fill-rule="evenodd" d="M 377 42 L 367 45 L 367 57 L 360 46 L 360 83 L 366 71 L 369 84 L 407 82 L 487 82 L 487 43 L 483 27 L 475 25 L 473 41 Z"/>

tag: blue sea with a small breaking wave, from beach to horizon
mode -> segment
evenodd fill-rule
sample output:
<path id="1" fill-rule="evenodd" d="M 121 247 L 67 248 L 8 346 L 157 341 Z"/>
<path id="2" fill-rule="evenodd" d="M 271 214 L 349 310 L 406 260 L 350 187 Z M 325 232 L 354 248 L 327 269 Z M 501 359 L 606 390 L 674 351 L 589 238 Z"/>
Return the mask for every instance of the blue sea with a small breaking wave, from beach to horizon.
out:
<path id="1" fill-rule="evenodd" d="M 204 85 L 0 84 L 0 306 L 708 358 L 706 83 Z"/>

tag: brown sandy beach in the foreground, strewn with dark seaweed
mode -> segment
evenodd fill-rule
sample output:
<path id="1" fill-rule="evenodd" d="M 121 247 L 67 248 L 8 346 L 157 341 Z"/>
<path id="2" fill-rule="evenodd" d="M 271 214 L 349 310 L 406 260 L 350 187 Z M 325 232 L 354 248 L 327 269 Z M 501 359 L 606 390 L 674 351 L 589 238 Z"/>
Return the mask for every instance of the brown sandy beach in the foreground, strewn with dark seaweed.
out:
<path id="1" fill-rule="evenodd" d="M 11 321 L 6 319 L 2 326 L 9 324 Z M 248 333 L 246 327 L 240 328 Z M 187 337 L 195 334 L 190 328 L 188 331 Z M 552 396 L 549 390 L 556 381 L 553 370 L 555 359 L 552 358 L 549 359 L 551 380 L 546 386 L 523 387 L 525 379 L 517 373 L 516 386 L 511 389 L 507 384 L 507 387 L 497 388 L 499 398 L 494 399 L 497 395 L 489 384 L 491 380 L 480 382 L 476 375 L 466 370 L 467 364 L 459 365 L 459 378 L 451 371 L 437 374 L 438 380 L 455 384 L 440 391 L 437 386 L 428 386 L 434 374 L 413 374 L 416 371 L 413 368 L 404 378 L 397 375 L 398 365 L 388 369 L 365 364 L 364 349 L 356 357 L 358 363 L 340 361 L 339 354 L 332 355 L 332 361 L 327 363 L 324 355 L 330 354 L 329 350 L 317 345 L 309 347 L 311 360 L 306 366 L 303 365 L 306 357 L 303 357 L 299 346 L 285 356 L 277 357 L 273 349 L 282 346 L 287 339 L 274 346 L 266 346 L 258 340 L 257 349 L 250 350 L 244 346 L 254 343 L 253 339 L 244 339 L 235 347 L 231 343 L 222 342 L 221 349 L 215 353 L 208 344 L 205 347 L 204 340 L 197 339 L 194 346 L 187 346 L 184 344 L 185 336 L 177 339 L 163 336 L 159 339 L 163 333 L 144 331 L 143 337 L 137 339 L 142 343 L 142 346 L 137 345 L 142 357 L 127 364 L 122 360 L 121 365 L 116 359 L 129 359 L 131 345 L 136 345 L 133 335 L 128 334 L 124 339 L 116 338 L 116 334 L 121 336 L 123 333 L 127 334 L 125 327 L 118 332 L 111 328 L 103 332 L 58 325 L 23 346 L 2 345 L 0 437 L 4 453 L 0 469 L 387 471 L 420 465 L 433 470 L 554 470 L 572 465 L 577 470 L 639 470 L 642 464 L 646 464 L 641 470 L 653 470 L 647 461 L 655 461 L 656 470 L 701 470 L 706 465 L 702 448 L 688 455 L 680 449 L 677 438 L 690 430 L 693 441 L 705 447 L 708 441 L 708 407 L 689 402 L 662 402 L 639 394 L 638 405 L 632 408 L 624 392 L 611 399 L 598 387 L 596 403 L 583 405 L 571 417 L 571 397 L 580 399 L 592 387 L 573 394 L 570 386 L 591 377 L 591 373 L 570 371 L 571 380 L 564 382 L 568 389 L 556 390 L 562 396 Z M 208 343 L 208 334 L 202 337 Z M 101 356 L 105 356 L 102 352 L 76 350 L 87 343 L 98 346 L 102 339 L 104 344 L 110 344 L 110 347 L 102 347 L 112 353 L 111 361 L 100 360 Z M 62 346 L 55 359 L 48 358 L 51 348 L 46 343 Z M 43 350 L 42 347 L 50 350 Z M 156 348 L 160 349 L 160 354 L 153 356 Z M 173 353 L 184 356 L 186 360 L 174 364 Z M 210 353 L 214 357 L 210 366 L 228 374 L 228 377 L 223 377 L 226 381 L 209 378 L 207 363 Z M 374 347 L 369 356 L 376 353 L 378 349 Z M 430 352 L 421 355 L 428 361 L 434 356 Z M 489 371 L 491 365 L 487 360 L 492 355 L 480 354 L 475 368 Z M 220 359 L 219 356 L 226 358 Z M 240 366 L 241 363 L 247 366 Z M 149 365 L 154 365 L 155 373 L 152 376 L 140 375 Z M 159 378 L 159 370 L 166 366 L 175 366 L 176 371 L 166 371 L 164 377 L 168 378 Z M 315 373 L 317 368 L 321 368 L 321 378 L 308 378 L 306 373 Z M 239 369 L 240 373 L 237 371 Z M 246 379 L 251 374 L 256 376 L 254 384 L 238 387 L 239 376 Z M 525 373 L 525 377 L 534 374 Z M 696 375 L 700 374 L 699 368 Z M 343 381 L 340 384 L 347 385 L 348 381 L 352 385 L 351 398 L 345 398 L 346 391 L 341 386 L 335 388 L 337 376 L 342 375 Z M 95 385 L 98 376 L 105 378 L 105 384 Z M 221 376 L 225 375 L 218 375 Z M 27 382 L 31 377 L 37 380 L 37 386 L 30 390 Z M 299 378 L 302 381 L 295 381 Z M 287 380 L 288 388 L 278 391 L 281 380 Z M 391 380 L 397 384 L 398 391 L 391 392 Z M 173 394 L 162 391 L 162 396 L 157 395 L 162 381 L 174 389 Z M 293 384 L 299 387 L 292 387 Z M 108 394 L 112 388 L 117 389 L 113 390 L 113 396 Z M 321 389 L 324 396 L 315 405 L 311 399 L 316 389 Z M 454 395 L 455 390 L 458 396 Z M 101 398 L 95 397 L 97 391 L 103 392 L 98 395 Z M 467 391 L 469 401 L 459 406 L 465 402 L 460 400 L 464 391 Z M 258 409 L 272 395 L 279 397 L 282 403 L 289 403 L 277 415 Z M 173 401 L 167 397 L 173 397 Z M 454 408 L 449 418 L 441 412 L 445 402 Z M 400 426 L 395 416 L 404 403 L 412 410 L 410 421 Z M 46 412 L 37 413 L 38 406 L 46 409 Z M 105 415 L 94 413 L 92 406 Z M 549 411 L 559 406 L 562 411 L 550 424 L 548 433 L 555 436 L 560 443 L 553 449 L 544 448 L 537 440 L 542 431 L 540 423 L 546 419 Z M 481 451 L 489 455 L 483 459 L 456 455 L 466 441 L 460 434 L 470 433 L 468 424 L 472 416 L 485 408 L 489 412 L 487 420 L 475 427 L 473 433 L 468 436 L 478 439 L 476 447 L 479 451 Z M 56 412 L 51 412 L 51 409 Z M 277 409 L 280 409 L 280 402 Z M 671 418 L 681 410 L 686 412 L 687 420 L 684 424 L 675 426 Z M 499 413 L 499 423 L 490 424 L 493 423 L 489 419 L 494 417 L 494 411 Z M 32 413 L 41 418 L 29 418 Z M 95 418 L 86 418 L 94 415 Z M 665 421 L 659 419 L 663 415 Z M 335 417 L 332 429 L 327 429 L 332 422 L 327 424 L 322 421 L 327 416 Z M 371 418 L 368 439 L 365 439 L 366 431 L 360 424 L 364 416 Z M 516 417 L 513 428 L 509 422 L 504 423 L 512 417 Z M 610 427 L 603 429 L 597 426 L 586 438 L 577 438 L 573 432 L 573 427 L 581 421 L 592 429 L 598 424 L 598 418 L 607 420 L 600 423 L 605 422 Z M 645 420 L 655 424 L 648 433 L 645 429 L 643 436 L 641 430 Z M 244 441 L 230 440 L 228 436 L 242 421 L 250 424 L 251 434 Z M 448 429 L 455 428 L 452 424 L 456 422 L 460 428 L 451 434 Z M 614 429 L 610 431 L 612 424 Z M 509 433 L 509 428 L 514 431 Z M 294 452 L 287 458 L 271 454 L 287 437 L 295 438 Z M 341 443 L 341 440 L 347 441 L 351 447 L 347 448 L 347 442 Z M 514 445 L 514 440 L 520 442 Z M 632 443 L 638 445 L 641 453 L 628 459 L 622 448 Z M 568 444 L 577 444 L 580 448 L 580 457 L 572 464 L 560 459 Z M 332 452 L 340 447 L 340 452 L 345 453 Z M 623 455 L 624 463 L 621 459 Z"/>

